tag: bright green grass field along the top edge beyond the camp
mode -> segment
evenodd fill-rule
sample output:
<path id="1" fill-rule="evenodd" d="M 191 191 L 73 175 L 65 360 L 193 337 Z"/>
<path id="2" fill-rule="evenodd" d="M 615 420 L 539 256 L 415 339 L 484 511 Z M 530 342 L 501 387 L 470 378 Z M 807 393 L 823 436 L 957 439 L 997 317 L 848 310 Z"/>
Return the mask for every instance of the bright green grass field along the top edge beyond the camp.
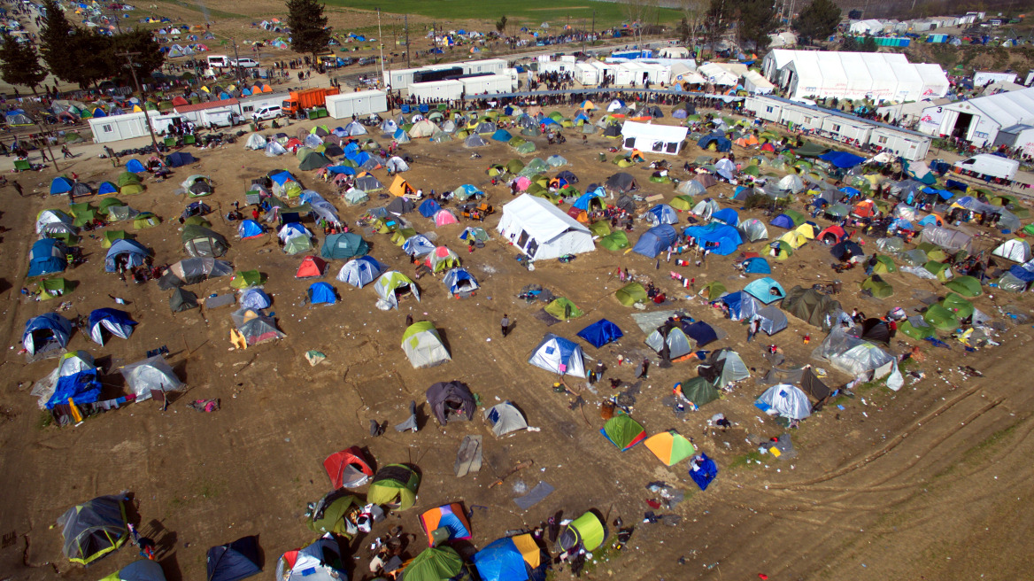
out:
<path id="1" fill-rule="evenodd" d="M 327 4 L 365 10 L 379 7 L 386 14 L 421 14 L 443 22 L 462 20 L 494 22 L 506 14 L 511 21 L 534 23 L 535 26 L 548 22 L 554 30 L 562 30 L 564 25 L 569 23 L 576 28 L 583 25 L 588 29 L 591 26 L 594 10 L 597 30 L 628 20 L 626 7 L 620 3 L 579 0 L 520 0 L 509 4 L 485 0 L 392 0 L 381 4 L 364 0 L 327 0 Z M 677 22 L 681 14 L 676 10 L 663 8 L 650 20 L 657 22 L 658 18 L 661 24 L 671 24 Z"/>

